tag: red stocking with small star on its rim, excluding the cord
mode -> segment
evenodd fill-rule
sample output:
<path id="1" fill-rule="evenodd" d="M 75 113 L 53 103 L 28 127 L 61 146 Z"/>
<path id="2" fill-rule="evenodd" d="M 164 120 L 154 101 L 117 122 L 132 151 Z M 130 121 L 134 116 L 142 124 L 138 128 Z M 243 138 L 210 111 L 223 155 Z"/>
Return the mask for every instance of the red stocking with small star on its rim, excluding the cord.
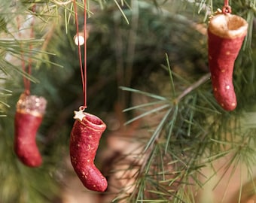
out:
<path id="1" fill-rule="evenodd" d="M 87 189 L 104 192 L 107 180 L 94 165 L 99 140 L 106 126 L 98 117 L 75 111 L 75 123 L 70 137 L 70 158 L 81 182 Z"/>

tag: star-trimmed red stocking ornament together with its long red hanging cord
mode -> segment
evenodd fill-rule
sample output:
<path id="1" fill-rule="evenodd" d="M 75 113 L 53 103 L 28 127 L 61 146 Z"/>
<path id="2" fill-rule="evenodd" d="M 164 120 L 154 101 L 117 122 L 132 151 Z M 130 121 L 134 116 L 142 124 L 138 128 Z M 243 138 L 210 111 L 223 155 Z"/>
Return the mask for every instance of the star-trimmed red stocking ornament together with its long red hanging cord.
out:
<path id="1" fill-rule="evenodd" d="M 76 36 L 87 36 L 86 33 L 86 1 L 84 1 L 84 34 L 78 32 L 78 13 L 76 10 L 76 2 L 74 0 L 75 10 L 75 23 L 77 29 Z M 94 159 L 96 151 L 99 147 L 99 141 L 102 133 L 106 129 L 105 123 L 98 117 L 85 113 L 84 110 L 87 108 L 87 59 L 86 59 L 86 39 L 81 41 L 77 39 L 75 44 L 78 45 L 78 55 L 81 69 L 81 79 L 84 92 L 84 106 L 79 108 L 79 111 L 75 112 L 75 123 L 72 128 L 69 141 L 69 153 L 72 166 L 78 174 L 81 182 L 87 189 L 104 192 L 108 187 L 106 178 L 102 175 L 98 168 L 94 165 Z M 81 60 L 81 45 L 84 44 L 84 68 Z"/>

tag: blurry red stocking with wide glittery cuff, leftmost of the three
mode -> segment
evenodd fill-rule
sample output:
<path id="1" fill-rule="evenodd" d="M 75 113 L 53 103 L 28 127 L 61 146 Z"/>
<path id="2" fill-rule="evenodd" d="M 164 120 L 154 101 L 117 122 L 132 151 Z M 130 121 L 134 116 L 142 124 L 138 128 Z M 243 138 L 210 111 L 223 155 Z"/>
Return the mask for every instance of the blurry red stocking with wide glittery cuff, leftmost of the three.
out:
<path id="1" fill-rule="evenodd" d="M 46 100 L 36 95 L 20 95 L 14 120 L 14 150 L 20 161 L 29 167 L 38 167 L 42 159 L 35 142 L 41 124 Z"/>

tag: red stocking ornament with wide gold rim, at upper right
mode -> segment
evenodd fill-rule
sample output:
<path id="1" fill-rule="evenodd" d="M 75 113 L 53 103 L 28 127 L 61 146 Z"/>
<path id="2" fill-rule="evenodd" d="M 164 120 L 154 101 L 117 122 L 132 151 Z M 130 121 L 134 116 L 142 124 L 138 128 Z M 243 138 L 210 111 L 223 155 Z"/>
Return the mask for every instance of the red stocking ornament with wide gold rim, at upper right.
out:
<path id="1" fill-rule="evenodd" d="M 226 111 L 236 108 L 233 66 L 247 28 L 248 23 L 242 17 L 231 14 L 228 1 L 225 1 L 222 11 L 209 20 L 208 58 L 212 89 L 218 104 Z"/>

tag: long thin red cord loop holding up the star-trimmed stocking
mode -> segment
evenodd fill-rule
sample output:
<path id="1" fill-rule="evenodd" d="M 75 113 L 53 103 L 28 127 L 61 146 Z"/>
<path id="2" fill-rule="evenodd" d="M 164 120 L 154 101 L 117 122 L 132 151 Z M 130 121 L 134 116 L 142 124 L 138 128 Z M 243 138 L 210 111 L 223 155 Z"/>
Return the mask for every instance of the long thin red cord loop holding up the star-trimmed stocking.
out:
<path id="1" fill-rule="evenodd" d="M 82 64 L 82 54 L 81 54 L 81 44 L 79 41 L 79 26 L 78 26 L 78 11 L 77 11 L 77 5 L 76 0 L 74 0 L 74 11 L 75 11 L 75 25 L 76 25 L 76 32 L 78 37 L 78 57 L 79 57 L 79 65 L 80 65 L 80 71 L 81 71 L 81 79 L 82 79 L 82 85 L 83 85 L 83 92 L 84 92 L 84 106 L 81 107 L 82 110 L 87 108 L 87 16 L 86 16 L 86 1 L 84 0 L 84 68 Z"/>

